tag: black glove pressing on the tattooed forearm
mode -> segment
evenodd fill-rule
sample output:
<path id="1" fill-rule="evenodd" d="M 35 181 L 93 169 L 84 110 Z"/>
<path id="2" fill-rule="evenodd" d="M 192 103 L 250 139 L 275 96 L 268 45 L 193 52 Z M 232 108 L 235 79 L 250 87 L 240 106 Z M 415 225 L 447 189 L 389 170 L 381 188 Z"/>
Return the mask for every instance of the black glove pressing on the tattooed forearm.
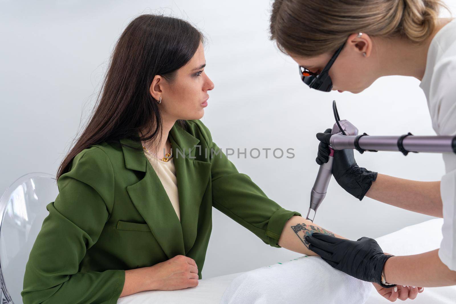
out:
<path id="1" fill-rule="evenodd" d="M 361 237 L 358 241 L 351 241 L 314 232 L 312 236 L 306 236 L 306 241 L 310 243 L 309 249 L 333 268 L 382 287 L 396 286 L 382 283 L 383 266 L 393 256 L 384 254 L 373 238 Z"/>

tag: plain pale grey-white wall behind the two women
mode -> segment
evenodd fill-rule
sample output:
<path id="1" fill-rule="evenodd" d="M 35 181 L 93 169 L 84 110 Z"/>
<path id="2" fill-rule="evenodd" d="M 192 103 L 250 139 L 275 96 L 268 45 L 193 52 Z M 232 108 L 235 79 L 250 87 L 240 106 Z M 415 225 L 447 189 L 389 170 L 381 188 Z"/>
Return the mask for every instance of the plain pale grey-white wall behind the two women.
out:
<path id="1" fill-rule="evenodd" d="M 0 5 L 1 192 L 29 172 L 56 174 L 93 107 L 114 41 L 143 13 L 184 18 L 209 38 L 205 71 L 215 88 L 202 122 L 222 149 L 294 149 L 292 159 L 275 159 L 269 151 L 267 159 L 263 152 L 257 159 L 233 155 L 230 160 L 269 198 L 304 217 L 318 171 L 315 134 L 332 127 L 333 99 L 341 119 L 360 133 L 435 135 L 416 78 L 382 77 L 359 94 L 324 93 L 304 85 L 296 63 L 269 41 L 269 1 L 0 0 Z M 355 157 L 368 170 L 405 179 L 440 180 L 444 174 L 438 154 L 355 151 Z M 358 201 L 332 180 L 316 223 L 357 239 L 430 218 L 368 197 Z M 202 277 L 299 256 L 269 247 L 214 208 Z"/>

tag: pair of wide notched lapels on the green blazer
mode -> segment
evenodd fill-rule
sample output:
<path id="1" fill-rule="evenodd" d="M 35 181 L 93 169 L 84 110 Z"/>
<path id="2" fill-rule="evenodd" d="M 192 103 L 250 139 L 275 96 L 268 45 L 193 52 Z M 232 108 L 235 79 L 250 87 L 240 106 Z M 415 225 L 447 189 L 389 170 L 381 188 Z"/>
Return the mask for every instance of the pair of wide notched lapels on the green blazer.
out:
<path id="1" fill-rule="evenodd" d="M 126 187 L 131 201 L 144 217 L 150 231 L 168 258 L 186 255 L 197 237 L 199 207 L 211 175 L 211 164 L 195 160 L 199 139 L 177 124 L 171 128 L 170 140 L 181 221 L 166 194 L 161 180 L 144 155 L 144 151 L 122 146 L 126 168 L 145 172 L 144 178 Z M 136 139 L 120 139 L 122 144 L 141 147 Z M 199 152 L 198 152 L 199 153 Z"/>

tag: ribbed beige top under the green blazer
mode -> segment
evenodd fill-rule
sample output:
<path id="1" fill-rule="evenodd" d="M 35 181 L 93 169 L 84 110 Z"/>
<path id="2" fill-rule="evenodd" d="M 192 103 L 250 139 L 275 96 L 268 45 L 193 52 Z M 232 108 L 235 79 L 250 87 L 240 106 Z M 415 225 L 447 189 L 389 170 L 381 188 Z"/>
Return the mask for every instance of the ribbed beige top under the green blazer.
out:
<path id="1" fill-rule="evenodd" d="M 179 194 L 177 192 L 177 179 L 176 179 L 176 168 L 174 167 L 174 157 L 168 161 L 162 161 L 156 158 L 154 155 L 150 155 L 147 151 L 144 151 L 146 158 L 149 160 L 150 165 L 154 168 L 161 180 L 161 184 L 165 188 L 166 194 L 171 201 L 174 210 L 176 211 L 179 221 L 181 221 L 181 212 L 179 209 Z"/>

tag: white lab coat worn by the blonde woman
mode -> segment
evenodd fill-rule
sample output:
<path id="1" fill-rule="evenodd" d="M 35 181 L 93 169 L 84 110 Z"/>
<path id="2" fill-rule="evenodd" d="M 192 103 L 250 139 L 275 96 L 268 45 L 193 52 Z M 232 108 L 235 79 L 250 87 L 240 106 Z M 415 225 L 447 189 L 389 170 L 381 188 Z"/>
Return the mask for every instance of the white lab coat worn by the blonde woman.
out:
<path id="1" fill-rule="evenodd" d="M 426 95 L 435 133 L 456 135 L 456 19 L 432 39 L 420 88 Z M 443 153 L 443 160 L 446 174 L 440 182 L 444 223 L 439 258 L 456 271 L 456 155 Z"/>

